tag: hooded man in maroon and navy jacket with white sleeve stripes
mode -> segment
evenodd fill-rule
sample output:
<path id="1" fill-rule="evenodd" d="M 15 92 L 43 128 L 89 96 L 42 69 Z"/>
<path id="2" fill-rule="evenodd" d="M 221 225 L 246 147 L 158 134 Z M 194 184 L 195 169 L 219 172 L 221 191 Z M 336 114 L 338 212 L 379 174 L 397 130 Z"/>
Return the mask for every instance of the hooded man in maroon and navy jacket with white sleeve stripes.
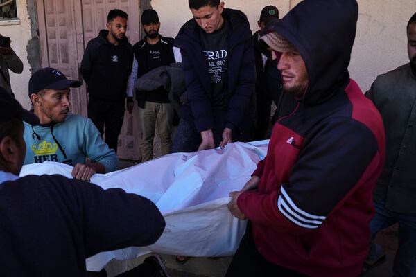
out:
<path id="1" fill-rule="evenodd" d="M 268 153 L 231 193 L 248 229 L 227 276 L 358 276 L 385 134 L 347 70 L 356 0 L 304 0 L 261 37 L 284 94 Z"/>

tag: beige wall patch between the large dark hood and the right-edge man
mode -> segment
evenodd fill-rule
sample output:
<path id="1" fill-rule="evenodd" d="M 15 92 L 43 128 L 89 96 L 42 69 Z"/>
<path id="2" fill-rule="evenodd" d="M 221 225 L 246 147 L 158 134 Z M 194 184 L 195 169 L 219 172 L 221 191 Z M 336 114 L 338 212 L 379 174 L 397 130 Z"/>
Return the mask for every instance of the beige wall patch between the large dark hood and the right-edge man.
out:
<path id="1" fill-rule="evenodd" d="M 408 62 L 406 25 L 415 0 L 358 0 L 356 41 L 350 75 L 363 91 L 377 75 Z"/>

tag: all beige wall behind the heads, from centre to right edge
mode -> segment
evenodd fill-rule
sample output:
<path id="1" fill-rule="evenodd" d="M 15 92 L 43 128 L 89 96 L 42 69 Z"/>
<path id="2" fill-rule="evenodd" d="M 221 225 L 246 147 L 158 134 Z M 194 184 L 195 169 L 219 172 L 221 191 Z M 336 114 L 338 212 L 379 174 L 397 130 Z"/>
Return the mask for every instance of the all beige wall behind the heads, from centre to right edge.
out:
<path id="1" fill-rule="evenodd" d="M 224 0 L 226 8 L 245 12 L 250 27 L 257 30 L 261 8 L 275 5 L 284 16 L 300 0 Z M 191 18 L 186 0 L 153 0 L 152 7 L 162 21 L 161 33 L 175 37 L 182 24 Z M 349 66 L 351 77 L 366 91 L 377 75 L 408 62 L 406 24 L 416 12 L 415 0 L 358 0 L 359 17 L 356 42 Z"/>

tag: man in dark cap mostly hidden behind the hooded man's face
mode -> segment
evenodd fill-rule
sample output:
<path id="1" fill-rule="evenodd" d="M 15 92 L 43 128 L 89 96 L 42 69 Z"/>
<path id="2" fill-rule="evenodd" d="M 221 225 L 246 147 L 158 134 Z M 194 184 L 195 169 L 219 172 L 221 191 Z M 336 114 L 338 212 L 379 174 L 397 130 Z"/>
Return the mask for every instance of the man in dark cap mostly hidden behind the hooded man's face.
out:
<path id="1" fill-rule="evenodd" d="M 257 21 L 260 30 L 253 34 L 254 57 L 256 58 L 256 102 L 257 102 L 257 127 L 256 140 L 266 139 L 266 131 L 270 123 L 271 105 L 279 102 L 281 95 L 281 76 L 275 62 L 264 54 L 259 39 L 263 35 L 266 24 L 279 19 L 279 10 L 275 6 L 266 6 L 261 10 L 260 19 Z M 266 51 L 267 52 L 267 51 Z"/>

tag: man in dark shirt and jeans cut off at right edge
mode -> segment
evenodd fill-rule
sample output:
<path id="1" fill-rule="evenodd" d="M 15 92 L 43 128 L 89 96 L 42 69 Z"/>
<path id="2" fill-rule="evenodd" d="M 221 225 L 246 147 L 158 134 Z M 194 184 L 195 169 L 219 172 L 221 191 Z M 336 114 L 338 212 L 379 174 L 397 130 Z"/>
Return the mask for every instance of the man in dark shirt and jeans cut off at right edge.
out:
<path id="1" fill-rule="evenodd" d="M 387 139 L 370 229 L 374 239 L 382 229 L 399 223 L 399 248 L 393 266 L 397 277 L 416 276 L 416 13 L 406 30 L 410 62 L 379 75 L 365 93 L 383 116 Z M 366 269 L 383 259 L 381 247 L 372 243 Z"/>

